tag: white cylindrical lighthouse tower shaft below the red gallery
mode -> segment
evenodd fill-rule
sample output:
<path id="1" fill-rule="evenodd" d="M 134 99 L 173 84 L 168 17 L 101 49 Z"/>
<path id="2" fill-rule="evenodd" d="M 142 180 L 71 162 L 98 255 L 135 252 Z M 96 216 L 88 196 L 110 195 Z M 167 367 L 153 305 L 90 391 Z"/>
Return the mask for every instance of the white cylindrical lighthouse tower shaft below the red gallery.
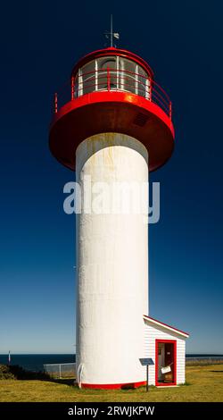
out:
<path id="1" fill-rule="evenodd" d="M 77 217 L 77 365 L 83 365 L 83 385 L 145 381 L 139 357 L 142 314 L 148 313 L 147 161 L 142 143 L 118 133 L 96 134 L 76 151 L 77 179 L 93 200 L 91 214 Z M 136 209 L 138 192 L 145 192 L 144 206 L 139 202 Z"/>

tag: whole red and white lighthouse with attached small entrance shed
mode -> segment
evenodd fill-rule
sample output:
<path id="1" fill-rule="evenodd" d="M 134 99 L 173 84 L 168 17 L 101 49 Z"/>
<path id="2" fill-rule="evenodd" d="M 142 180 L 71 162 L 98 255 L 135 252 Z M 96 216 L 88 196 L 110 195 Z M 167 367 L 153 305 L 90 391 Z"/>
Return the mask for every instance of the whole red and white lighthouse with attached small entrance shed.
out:
<path id="1" fill-rule="evenodd" d="M 149 317 L 148 189 L 127 212 L 114 208 L 120 184 L 125 205 L 125 185 L 147 185 L 149 172 L 169 160 L 171 102 L 143 58 L 114 46 L 78 61 L 69 92 L 65 103 L 55 95 L 49 144 L 54 157 L 76 172 L 85 207 L 76 215 L 77 382 L 137 387 L 145 384 L 140 359 L 152 357 L 150 383 L 169 383 L 168 372 L 161 372 L 167 364 L 170 383 L 182 383 L 176 355 L 180 348 L 184 363 L 188 335 Z M 89 192 L 104 185 L 109 193 L 97 212 Z M 169 345 L 161 347 L 162 340 Z"/>

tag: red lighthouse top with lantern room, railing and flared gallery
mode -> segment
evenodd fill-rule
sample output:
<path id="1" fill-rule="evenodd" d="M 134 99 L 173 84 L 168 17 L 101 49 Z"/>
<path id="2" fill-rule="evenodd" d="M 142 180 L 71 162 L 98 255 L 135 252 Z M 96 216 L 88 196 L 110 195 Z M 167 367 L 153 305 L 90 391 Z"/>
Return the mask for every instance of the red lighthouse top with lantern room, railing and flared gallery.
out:
<path id="1" fill-rule="evenodd" d="M 167 162 L 174 147 L 171 102 L 145 61 L 127 50 L 108 47 L 74 66 L 70 97 L 54 97 L 50 149 L 75 170 L 78 144 L 98 133 L 118 132 L 141 141 L 149 151 L 150 172 Z"/>

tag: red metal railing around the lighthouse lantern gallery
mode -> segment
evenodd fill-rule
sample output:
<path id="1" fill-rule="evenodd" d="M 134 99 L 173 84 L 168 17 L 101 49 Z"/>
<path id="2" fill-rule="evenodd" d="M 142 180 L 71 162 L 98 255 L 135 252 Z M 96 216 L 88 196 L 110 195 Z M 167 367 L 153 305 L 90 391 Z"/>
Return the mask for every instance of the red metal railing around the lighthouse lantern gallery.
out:
<path id="1" fill-rule="evenodd" d="M 68 87 L 68 84 L 65 86 Z M 170 120 L 172 118 L 172 104 L 169 96 L 158 83 L 139 73 L 109 68 L 105 70 L 88 71 L 83 74 L 78 74 L 76 78 L 71 77 L 69 86 L 69 89 L 63 88 L 63 91 L 60 91 L 59 94 L 55 93 L 54 113 L 57 113 L 58 109 L 66 102 L 70 101 L 70 99 L 75 100 L 77 97 L 81 97 L 87 93 L 106 90 L 108 92 L 126 91 L 140 97 L 145 97 L 148 101 L 160 106 L 162 111 L 169 116 Z M 58 100 L 60 106 L 58 105 Z"/>

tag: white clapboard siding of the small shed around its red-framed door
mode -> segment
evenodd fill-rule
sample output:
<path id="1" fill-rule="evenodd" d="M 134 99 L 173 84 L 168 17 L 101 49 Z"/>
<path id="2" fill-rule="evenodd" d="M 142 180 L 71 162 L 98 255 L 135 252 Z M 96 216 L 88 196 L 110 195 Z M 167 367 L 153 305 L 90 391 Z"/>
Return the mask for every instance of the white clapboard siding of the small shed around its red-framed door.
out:
<path id="1" fill-rule="evenodd" d="M 155 385 L 155 340 L 177 340 L 177 384 L 185 383 L 186 339 L 177 332 L 167 332 L 165 327 L 152 325 L 145 320 L 145 357 L 153 358 L 149 366 L 149 384 Z"/>

